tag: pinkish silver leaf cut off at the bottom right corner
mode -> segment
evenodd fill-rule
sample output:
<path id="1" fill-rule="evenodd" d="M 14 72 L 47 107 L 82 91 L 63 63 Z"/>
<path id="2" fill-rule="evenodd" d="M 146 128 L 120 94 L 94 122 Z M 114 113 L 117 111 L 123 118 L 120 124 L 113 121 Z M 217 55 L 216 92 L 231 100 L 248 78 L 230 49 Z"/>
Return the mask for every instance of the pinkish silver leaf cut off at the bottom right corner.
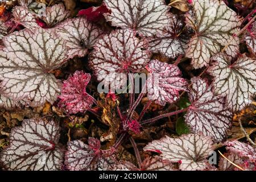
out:
<path id="1" fill-rule="evenodd" d="M 247 158 L 251 162 L 256 163 L 256 148 L 249 144 L 239 142 L 238 140 L 232 140 L 224 143 L 226 150 L 232 154 L 240 156 L 240 158 Z"/>

